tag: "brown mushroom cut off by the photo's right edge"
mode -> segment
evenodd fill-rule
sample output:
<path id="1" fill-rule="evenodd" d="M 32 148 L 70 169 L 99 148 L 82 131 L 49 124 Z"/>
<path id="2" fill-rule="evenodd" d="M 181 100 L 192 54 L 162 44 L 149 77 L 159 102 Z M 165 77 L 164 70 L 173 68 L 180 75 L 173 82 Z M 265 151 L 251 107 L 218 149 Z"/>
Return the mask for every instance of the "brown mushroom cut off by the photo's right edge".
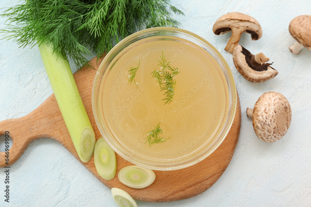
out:
<path id="1" fill-rule="evenodd" d="M 290 52 L 299 54 L 303 47 L 311 51 L 311 15 L 301 15 L 290 21 L 290 35 L 296 42 L 290 45 Z"/>

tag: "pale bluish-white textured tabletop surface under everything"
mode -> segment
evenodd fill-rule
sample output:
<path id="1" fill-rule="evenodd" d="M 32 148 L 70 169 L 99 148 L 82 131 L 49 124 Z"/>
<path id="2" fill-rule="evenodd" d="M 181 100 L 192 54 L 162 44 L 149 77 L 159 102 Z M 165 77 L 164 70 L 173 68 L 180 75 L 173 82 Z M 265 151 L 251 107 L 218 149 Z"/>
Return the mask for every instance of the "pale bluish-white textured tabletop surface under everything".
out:
<path id="1" fill-rule="evenodd" d="M 17 3 L 1 0 L 0 8 Z M 210 189 L 187 200 L 137 204 L 311 206 L 311 51 L 304 48 L 294 55 L 288 49 L 294 42 L 288 32 L 289 22 L 302 14 L 311 15 L 311 2 L 173 0 L 172 4 L 185 13 L 174 17 L 182 28 L 207 39 L 228 61 L 241 102 L 241 133 L 230 165 Z M 253 16 L 261 24 L 261 39 L 251 41 L 249 34 L 243 34 L 240 44 L 274 61 L 272 66 L 279 71 L 274 79 L 251 83 L 235 69 L 232 55 L 224 50 L 231 33 L 216 36 L 212 31 L 216 19 L 232 11 Z M 0 28 L 4 21 L 0 19 Z M 253 107 L 258 97 L 268 91 L 282 93 L 292 108 L 290 129 L 275 143 L 259 140 L 245 114 L 246 108 Z M 0 121 L 27 115 L 51 94 L 38 48 L 19 48 L 12 40 L 0 40 Z M 51 139 L 32 142 L 12 165 L 9 204 L 4 202 L 4 169 L 0 170 L 0 206 L 116 206 L 110 189 Z"/>

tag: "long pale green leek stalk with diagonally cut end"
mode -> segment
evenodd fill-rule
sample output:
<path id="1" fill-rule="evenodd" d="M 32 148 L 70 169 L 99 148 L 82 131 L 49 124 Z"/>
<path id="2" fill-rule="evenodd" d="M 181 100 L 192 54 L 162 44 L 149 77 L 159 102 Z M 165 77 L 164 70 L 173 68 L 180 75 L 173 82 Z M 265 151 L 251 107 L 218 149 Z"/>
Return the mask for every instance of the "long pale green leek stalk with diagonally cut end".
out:
<path id="1" fill-rule="evenodd" d="M 81 100 L 66 56 L 56 54 L 46 43 L 38 43 L 40 55 L 48 74 L 60 112 L 73 145 L 83 162 L 93 156 L 95 134 Z"/>

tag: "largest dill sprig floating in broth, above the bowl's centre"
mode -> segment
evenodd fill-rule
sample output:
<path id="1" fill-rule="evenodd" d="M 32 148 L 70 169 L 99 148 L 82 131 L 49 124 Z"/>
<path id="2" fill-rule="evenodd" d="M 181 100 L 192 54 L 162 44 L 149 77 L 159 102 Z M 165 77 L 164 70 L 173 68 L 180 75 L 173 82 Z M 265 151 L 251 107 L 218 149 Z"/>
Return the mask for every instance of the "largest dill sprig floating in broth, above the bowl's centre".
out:
<path id="1" fill-rule="evenodd" d="M 158 62 L 158 65 L 161 66 L 161 70 L 154 70 L 151 74 L 160 86 L 160 91 L 164 91 L 163 95 L 165 97 L 162 99 L 162 101 L 165 101 L 164 105 L 166 105 L 173 100 L 176 84 L 174 76 L 179 74 L 180 71 L 177 67 L 175 68 L 170 66 L 171 61 L 166 60 L 163 51 L 162 56 L 160 56 L 160 60 L 158 60 Z M 165 69 L 168 69 L 169 71 Z"/>

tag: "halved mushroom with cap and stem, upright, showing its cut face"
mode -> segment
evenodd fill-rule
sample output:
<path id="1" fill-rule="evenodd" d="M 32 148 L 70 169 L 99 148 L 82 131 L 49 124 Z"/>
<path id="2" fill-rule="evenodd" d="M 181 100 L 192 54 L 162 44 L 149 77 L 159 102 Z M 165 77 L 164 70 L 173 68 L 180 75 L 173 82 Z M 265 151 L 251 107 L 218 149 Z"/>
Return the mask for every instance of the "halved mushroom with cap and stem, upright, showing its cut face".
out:
<path id="1" fill-rule="evenodd" d="M 225 50 L 233 53 L 234 47 L 239 43 L 243 32 L 249 33 L 252 40 L 258 40 L 262 36 L 262 28 L 257 20 L 239 12 L 230 12 L 216 20 L 213 32 L 216 35 L 232 31 Z"/>

